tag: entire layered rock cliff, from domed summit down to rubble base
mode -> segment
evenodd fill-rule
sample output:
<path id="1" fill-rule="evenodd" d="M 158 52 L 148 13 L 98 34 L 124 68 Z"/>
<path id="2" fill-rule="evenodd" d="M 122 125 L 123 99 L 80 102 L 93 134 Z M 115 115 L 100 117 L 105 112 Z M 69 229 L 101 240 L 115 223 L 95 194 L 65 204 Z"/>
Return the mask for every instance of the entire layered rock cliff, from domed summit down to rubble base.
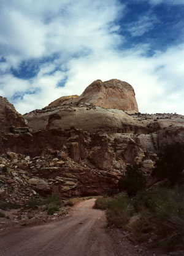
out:
<path id="1" fill-rule="evenodd" d="M 122 94 L 120 88 L 124 90 Z M 132 105 L 128 101 L 123 103 L 125 89 L 128 93 L 124 98 Z M 164 146 L 184 141 L 184 116 L 131 114 L 128 110 L 116 109 L 124 104 L 129 110 L 138 111 L 132 87 L 116 79 L 104 83 L 95 81 L 80 97 L 61 97 L 42 110 L 26 114 L 33 132 L 28 127 L 16 134 L 9 130 L 12 124 L 23 127 L 26 122 L 7 100 L 0 100 L 1 104 L 4 102 L 1 105 L 0 172 L 7 167 L 8 175 L 12 174 L 9 177 L 12 183 L 4 186 L 4 193 L 11 195 L 17 188 L 15 201 L 20 199 L 18 177 L 23 179 L 20 184 L 29 185 L 30 190 L 39 194 L 108 193 L 117 188 L 126 164 L 141 163 L 142 171 L 149 173 Z M 98 103 L 104 106 L 96 106 Z M 25 172 L 28 178 L 21 177 Z M 4 175 L 5 181 L 7 178 Z M 31 178 L 40 179 L 37 183 L 41 185 L 35 180 L 29 181 Z"/>

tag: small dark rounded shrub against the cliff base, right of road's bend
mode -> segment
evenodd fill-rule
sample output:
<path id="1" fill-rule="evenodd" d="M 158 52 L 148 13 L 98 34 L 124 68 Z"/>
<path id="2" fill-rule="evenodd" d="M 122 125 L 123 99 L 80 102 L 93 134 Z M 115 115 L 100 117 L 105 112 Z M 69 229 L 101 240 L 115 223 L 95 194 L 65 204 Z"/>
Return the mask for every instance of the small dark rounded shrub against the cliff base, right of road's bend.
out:
<path id="1" fill-rule="evenodd" d="M 126 173 L 118 183 L 120 191 L 126 191 L 129 196 L 134 196 L 145 185 L 145 177 L 138 164 L 126 166 Z"/>

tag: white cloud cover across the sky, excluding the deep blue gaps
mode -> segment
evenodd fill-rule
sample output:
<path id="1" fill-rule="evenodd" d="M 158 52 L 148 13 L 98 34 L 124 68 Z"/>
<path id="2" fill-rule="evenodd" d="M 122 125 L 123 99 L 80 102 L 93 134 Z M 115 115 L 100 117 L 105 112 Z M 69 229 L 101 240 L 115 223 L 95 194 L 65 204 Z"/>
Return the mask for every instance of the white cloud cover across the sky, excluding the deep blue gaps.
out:
<path id="1" fill-rule="evenodd" d="M 6 62 L 0 62 L 1 72 L 18 68 L 23 60 L 57 56 L 40 62 L 32 79 L 1 75 L 0 94 L 21 95 L 13 100 L 20 113 L 42 108 L 63 95 L 80 95 L 95 79 L 117 78 L 132 84 L 140 111 L 184 114 L 184 44 L 153 57 L 147 57 L 150 46 L 145 44 L 119 50 L 125 38 L 118 34 L 115 20 L 123 16 L 125 6 L 118 1 L 8 2 L 2 1 L 0 10 L 1 54 L 6 57 Z M 132 36 L 141 36 L 155 22 L 154 16 L 147 15 L 128 29 Z M 66 86 L 58 87 L 66 77 Z"/>

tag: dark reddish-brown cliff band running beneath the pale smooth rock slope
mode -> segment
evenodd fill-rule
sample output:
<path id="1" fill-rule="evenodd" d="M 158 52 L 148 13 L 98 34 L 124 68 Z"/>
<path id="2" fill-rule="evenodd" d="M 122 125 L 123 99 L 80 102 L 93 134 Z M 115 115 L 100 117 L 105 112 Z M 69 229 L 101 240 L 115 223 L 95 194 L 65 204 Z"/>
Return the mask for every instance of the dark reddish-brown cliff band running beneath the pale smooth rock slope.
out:
<path id="1" fill-rule="evenodd" d="M 38 130 L 21 135 L 1 133 L 0 153 L 10 150 L 35 157 L 64 151 L 75 162 L 122 172 L 125 164 L 149 159 L 155 161 L 156 154 L 165 145 L 184 140 L 184 117 L 175 115 L 175 118 L 170 119 L 170 116 L 172 115 L 167 114 L 162 121 L 163 119 L 155 119 L 154 115 L 139 115 L 139 119 L 147 126 L 140 128 L 134 121 L 134 126 L 127 126 L 127 130 L 87 132 L 72 127 Z M 135 116 L 132 118 L 136 120 Z M 158 124 L 150 125 L 155 122 Z"/>

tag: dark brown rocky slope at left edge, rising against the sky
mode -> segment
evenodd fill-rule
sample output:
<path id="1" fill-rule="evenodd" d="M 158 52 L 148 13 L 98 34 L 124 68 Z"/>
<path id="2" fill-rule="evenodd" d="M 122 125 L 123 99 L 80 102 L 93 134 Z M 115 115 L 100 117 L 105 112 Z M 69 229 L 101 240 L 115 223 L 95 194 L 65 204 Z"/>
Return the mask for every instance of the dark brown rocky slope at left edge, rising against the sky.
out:
<path id="1" fill-rule="evenodd" d="M 27 121 L 7 98 L 0 96 L 0 130 L 3 132 L 28 132 Z"/>

